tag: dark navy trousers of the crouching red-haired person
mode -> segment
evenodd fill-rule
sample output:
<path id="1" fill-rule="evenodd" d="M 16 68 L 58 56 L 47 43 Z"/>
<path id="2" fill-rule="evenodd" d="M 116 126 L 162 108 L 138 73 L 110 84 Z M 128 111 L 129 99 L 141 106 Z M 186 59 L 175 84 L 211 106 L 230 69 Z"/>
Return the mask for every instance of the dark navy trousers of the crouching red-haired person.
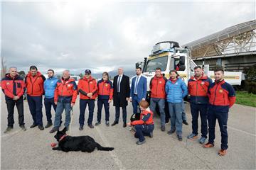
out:
<path id="1" fill-rule="evenodd" d="M 149 133 L 153 132 L 154 125 L 135 125 L 134 128 L 136 129 L 134 137 L 139 138 L 139 142 L 142 142 L 145 140 L 144 136 L 149 136 Z"/>

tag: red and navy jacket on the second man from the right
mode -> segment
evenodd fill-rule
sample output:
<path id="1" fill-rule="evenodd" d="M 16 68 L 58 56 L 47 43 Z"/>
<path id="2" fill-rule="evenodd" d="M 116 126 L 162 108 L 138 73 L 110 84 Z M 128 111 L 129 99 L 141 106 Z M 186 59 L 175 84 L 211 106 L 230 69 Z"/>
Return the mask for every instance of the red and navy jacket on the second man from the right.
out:
<path id="1" fill-rule="evenodd" d="M 203 77 L 197 79 L 196 77 L 191 77 L 188 80 L 188 94 L 190 94 L 190 102 L 195 104 L 208 104 L 208 86 L 212 84 L 213 81 L 203 75 Z"/>

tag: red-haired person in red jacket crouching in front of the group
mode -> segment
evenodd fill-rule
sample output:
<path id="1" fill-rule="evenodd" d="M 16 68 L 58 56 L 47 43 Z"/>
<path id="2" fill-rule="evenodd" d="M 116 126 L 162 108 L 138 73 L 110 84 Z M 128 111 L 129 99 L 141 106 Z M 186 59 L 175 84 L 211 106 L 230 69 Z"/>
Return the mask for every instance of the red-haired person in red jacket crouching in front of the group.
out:
<path id="1" fill-rule="evenodd" d="M 149 109 L 149 103 L 147 101 L 141 101 L 139 103 L 139 108 L 142 113 L 140 114 L 140 119 L 135 120 L 128 125 L 133 125 L 136 132 L 134 137 L 139 138 L 136 142 L 137 145 L 142 145 L 146 142 L 144 136 L 153 137 L 154 130 L 154 120 L 153 120 L 153 112 Z"/>

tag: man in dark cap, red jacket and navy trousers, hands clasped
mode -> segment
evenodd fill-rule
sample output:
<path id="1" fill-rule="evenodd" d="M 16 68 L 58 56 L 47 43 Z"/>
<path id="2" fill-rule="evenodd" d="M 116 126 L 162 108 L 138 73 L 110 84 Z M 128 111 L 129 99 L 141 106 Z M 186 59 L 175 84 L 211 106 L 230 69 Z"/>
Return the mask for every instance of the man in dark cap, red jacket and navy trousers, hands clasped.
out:
<path id="1" fill-rule="evenodd" d="M 85 76 L 78 81 L 78 92 L 80 93 L 80 115 L 79 115 L 79 130 L 83 130 L 85 124 L 85 109 L 89 107 L 89 117 L 87 124 L 90 128 L 92 125 L 93 111 L 95 108 L 95 98 L 97 97 L 97 81 L 92 78 L 90 69 L 85 70 Z"/>

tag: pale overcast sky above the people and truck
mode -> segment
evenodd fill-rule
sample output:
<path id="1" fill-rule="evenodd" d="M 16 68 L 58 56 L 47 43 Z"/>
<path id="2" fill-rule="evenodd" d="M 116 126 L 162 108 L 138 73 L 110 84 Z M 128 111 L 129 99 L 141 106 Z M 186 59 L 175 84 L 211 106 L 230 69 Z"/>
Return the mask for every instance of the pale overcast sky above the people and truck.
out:
<path id="1" fill-rule="evenodd" d="M 1 57 L 73 74 L 132 70 L 159 41 L 184 45 L 255 19 L 255 2 L 2 2 Z"/>

